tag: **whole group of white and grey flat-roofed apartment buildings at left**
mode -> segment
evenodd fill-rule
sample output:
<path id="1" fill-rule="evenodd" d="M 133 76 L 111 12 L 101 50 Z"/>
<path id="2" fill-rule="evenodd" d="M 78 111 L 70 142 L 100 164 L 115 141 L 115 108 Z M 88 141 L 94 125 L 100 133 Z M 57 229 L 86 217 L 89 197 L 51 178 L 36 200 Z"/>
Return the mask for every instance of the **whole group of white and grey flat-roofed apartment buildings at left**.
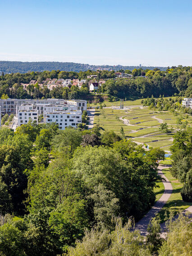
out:
<path id="1" fill-rule="evenodd" d="M 0 112 L 2 114 L 15 114 L 12 127 L 14 130 L 29 120 L 38 123 L 41 116 L 41 123 L 58 124 L 59 129 L 66 127 L 78 127 L 82 123 L 82 111 L 87 110 L 87 101 L 84 100 L 20 100 L 0 99 Z M 1 116 L 1 114 L 0 114 Z"/>

